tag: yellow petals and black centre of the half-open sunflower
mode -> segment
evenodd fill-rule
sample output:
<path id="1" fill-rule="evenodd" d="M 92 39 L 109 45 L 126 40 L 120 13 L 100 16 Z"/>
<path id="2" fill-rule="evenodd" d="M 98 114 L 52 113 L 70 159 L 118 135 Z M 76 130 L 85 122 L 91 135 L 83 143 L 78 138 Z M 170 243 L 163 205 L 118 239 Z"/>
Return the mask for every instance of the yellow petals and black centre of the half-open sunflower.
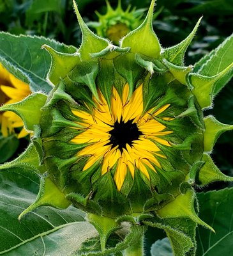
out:
<path id="1" fill-rule="evenodd" d="M 141 84 L 128 100 L 128 84 L 124 86 L 123 99 L 113 87 L 110 106 L 99 92 L 100 101 L 94 99 L 96 107 L 92 114 L 73 111 L 75 116 L 82 118 L 79 124 L 84 131 L 71 142 L 91 144 L 78 153 L 78 156 L 90 156 L 83 171 L 101 160 L 101 175 L 104 175 L 116 164 L 114 180 L 118 191 L 121 190 L 127 169 L 132 177 L 135 168 L 138 168 L 150 179 L 147 168 L 155 173 L 156 166 L 162 168 L 156 156 L 166 157 L 156 142 L 170 147 L 169 142 L 161 137 L 172 131 L 167 131 L 165 125 L 154 119 L 154 116 L 158 116 L 170 105 L 166 104 L 156 111 L 152 108 L 143 113 L 142 88 Z"/>

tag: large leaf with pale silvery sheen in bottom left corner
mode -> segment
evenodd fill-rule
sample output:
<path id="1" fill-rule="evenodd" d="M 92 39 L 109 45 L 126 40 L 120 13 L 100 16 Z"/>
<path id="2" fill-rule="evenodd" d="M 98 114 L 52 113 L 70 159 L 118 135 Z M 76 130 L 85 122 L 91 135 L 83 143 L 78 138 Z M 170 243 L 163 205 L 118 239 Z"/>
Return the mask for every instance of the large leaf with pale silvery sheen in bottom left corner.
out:
<path id="1" fill-rule="evenodd" d="M 18 221 L 33 203 L 38 179 L 31 175 L 0 174 L 0 255 L 75 255 L 82 242 L 98 233 L 84 221 L 84 212 L 69 207 L 60 211 L 41 207 Z"/>

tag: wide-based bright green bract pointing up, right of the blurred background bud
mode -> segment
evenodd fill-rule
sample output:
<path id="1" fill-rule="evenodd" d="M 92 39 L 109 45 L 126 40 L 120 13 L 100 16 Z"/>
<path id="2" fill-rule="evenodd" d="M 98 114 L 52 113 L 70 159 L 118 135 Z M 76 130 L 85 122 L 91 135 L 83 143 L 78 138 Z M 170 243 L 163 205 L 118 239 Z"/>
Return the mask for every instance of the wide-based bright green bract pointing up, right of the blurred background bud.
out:
<path id="1" fill-rule="evenodd" d="M 151 1 L 146 19 L 139 28 L 128 33 L 128 35 L 121 40 L 121 47 L 130 47 L 130 52 L 140 53 L 158 59 L 161 46 L 152 26 L 154 2 L 155 0 Z"/>

